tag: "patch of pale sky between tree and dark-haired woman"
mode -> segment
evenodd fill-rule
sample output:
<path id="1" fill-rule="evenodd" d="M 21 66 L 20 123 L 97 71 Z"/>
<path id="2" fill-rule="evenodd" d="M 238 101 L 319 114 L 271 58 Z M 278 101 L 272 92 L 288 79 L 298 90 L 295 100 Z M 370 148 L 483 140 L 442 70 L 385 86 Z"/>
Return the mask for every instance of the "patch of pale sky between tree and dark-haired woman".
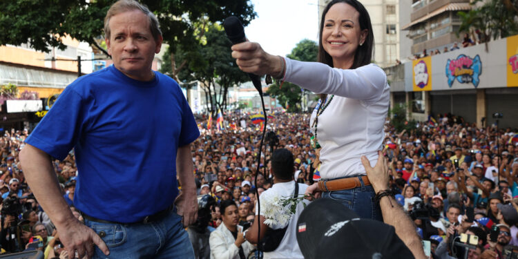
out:
<path id="1" fill-rule="evenodd" d="M 318 0 L 252 0 L 256 19 L 244 28 L 250 41 L 285 56 L 303 39 L 317 41 Z"/>

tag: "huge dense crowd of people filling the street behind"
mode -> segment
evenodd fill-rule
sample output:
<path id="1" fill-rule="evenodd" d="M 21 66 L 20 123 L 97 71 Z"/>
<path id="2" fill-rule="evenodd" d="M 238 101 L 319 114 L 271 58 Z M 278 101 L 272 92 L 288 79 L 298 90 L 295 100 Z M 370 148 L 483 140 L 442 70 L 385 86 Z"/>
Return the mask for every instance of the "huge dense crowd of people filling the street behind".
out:
<path id="1" fill-rule="evenodd" d="M 296 182 L 318 181 L 319 153 L 309 143 L 308 114 L 278 112 L 269 118 L 266 130 L 271 133 L 265 139 L 259 170 L 260 124 L 252 124 L 249 115 L 228 112 L 222 130 L 214 125 L 208 129 L 207 119 L 199 121 L 202 135 L 192 145 L 193 173 L 199 197 L 209 195 L 215 200 L 208 233 L 225 221 L 244 229 L 251 225 L 256 191 L 261 195 L 274 184 L 270 157 L 275 148 L 293 153 Z M 503 258 L 508 245 L 518 245 L 516 130 L 501 128 L 497 137 L 495 126 L 477 128 L 457 122 L 461 119 L 448 115 L 437 124 L 422 122 L 397 132 L 387 121 L 384 155 L 392 191 L 421 238 L 430 241 L 431 258 L 462 258 L 464 253 L 468 258 Z M 18 153 L 27 135 L 26 129 L 13 129 L 0 138 L 2 252 L 41 249 L 46 258 L 64 258 L 58 233 L 32 195 L 19 164 Z M 73 207 L 74 153 L 53 164 L 65 200 L 82 220 Z M 225 211 L 220 204 L 226 204 Z M 235 215 L 227 215 L 229 207 L 236 209 L 231 212 Z M 477 238 L 466 241 L 461 238 L 464 234 Z M 476 241 L 470 244 L 470 240 Z M 247 253 L 253 250 L 246 245 Z M 200 258 L 204 257 L 200 254 Z"/>

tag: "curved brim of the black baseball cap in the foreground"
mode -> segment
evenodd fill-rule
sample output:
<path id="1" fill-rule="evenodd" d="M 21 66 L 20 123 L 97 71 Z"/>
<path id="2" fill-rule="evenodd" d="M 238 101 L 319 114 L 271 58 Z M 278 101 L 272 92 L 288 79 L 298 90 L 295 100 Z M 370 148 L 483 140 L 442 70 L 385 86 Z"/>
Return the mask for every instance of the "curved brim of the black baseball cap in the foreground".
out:
<path id="1" fill-rule="evenodd" d="M 297 241 L 304 258 L 316 258 L 318 240 L 332 224 L 359 218 L 335 200 L 320 198 L 307 205 L 297 221 Z"/>

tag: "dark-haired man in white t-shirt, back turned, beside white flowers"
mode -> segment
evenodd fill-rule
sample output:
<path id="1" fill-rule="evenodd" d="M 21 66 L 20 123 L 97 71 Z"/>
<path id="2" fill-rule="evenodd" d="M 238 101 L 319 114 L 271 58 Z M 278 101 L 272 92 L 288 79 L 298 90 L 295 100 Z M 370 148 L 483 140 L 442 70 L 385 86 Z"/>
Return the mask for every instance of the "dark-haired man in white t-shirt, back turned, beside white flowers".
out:
<path id="1" fill-rule="evenodd" d="M 259 196 L 259 200 L 262 204 L 265 204 L 266 200 L 274 199 L 275 197 L 299 197 L 303 195 L 307 189 L 306 184 L 298 183 L 294 180 L 294 155 L 286 148 L 279 148 L 274 151 L 271 156 L 271 173 L 274 174 L 274 185 L 270 189 L 267 189 L 262 195 Z M 297 192 L 295 195 L 294 193 Z M 286 224 L 274 223 L 271 226 L 265 224 L 265 213 L 263 210 L 267 208 L 261 207 L 261 211 L 256 208 L 256 218 L 253 220 L 252 227 L 247 231 L 244 231 L 244 238 L 249 240 L 253 244 L 257 244 L 262 241 L 265 235 L 268 235 L 268 227 L 271 229 L 284 229 L 284 238 L 278 240 L 277 249 L 274 251 L 265 252 L 265 258 L 304 258 L 298 242 L 296 239 L 297 233 L 297 220 L 300 213 L 303 211 L 305 205 L 308 204 L 308 200 L 298 202 L 296 205 L 295 214 L 291 216 L 289 222 Z M 259 230 L 260 229 L 260 230 Z M 260 232 L 260 239 L 258 240 L 258 232 Z"/>

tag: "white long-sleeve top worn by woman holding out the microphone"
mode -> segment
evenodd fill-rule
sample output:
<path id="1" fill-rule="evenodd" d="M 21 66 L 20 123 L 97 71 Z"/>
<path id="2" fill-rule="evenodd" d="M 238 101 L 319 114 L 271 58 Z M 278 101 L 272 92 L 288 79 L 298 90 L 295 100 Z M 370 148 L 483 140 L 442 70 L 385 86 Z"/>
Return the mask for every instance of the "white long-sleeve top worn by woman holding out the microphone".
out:
<path id="1" fill-rule="evenodd" d="M 315 93 L 326 93 L 327 98 L 335 95 L 318 116 L 320 177 L 365 174 L 360 157 L 365 155 L 374 166 L 377 151 L 383 148 L 383 125 L 390 100 L 390 86 L 383 69 L 374 64 L 340 69 L 317 62 L 285 60 L 285 81 Z M 309 121 L 312 133 L 317 108 Z"/>

